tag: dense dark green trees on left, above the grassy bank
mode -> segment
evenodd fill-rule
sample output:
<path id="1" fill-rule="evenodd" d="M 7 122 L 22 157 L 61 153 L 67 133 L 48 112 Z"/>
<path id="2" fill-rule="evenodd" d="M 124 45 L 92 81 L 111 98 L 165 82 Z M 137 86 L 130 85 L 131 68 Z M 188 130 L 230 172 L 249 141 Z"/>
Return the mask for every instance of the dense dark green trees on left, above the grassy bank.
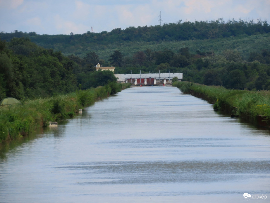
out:
<path id="1" fill-rule="evenodd" d="M 73 60 L 72 60 L 73 59 Z M 96 71 L 85 57 L 44 49 L 29 38 L 0 40 L 0 99 L 33 99 L 105 86 L 116 82 L 111 71 Z"/>

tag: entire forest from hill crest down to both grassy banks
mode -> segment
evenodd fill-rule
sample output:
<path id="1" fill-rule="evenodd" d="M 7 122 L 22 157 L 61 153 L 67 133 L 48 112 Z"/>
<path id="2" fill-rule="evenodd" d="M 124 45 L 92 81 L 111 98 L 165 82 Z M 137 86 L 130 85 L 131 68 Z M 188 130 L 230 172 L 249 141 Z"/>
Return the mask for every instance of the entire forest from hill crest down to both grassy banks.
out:
<path id="1" fill-rule="evenodd" d="M 270 89 L 266 21 L 195 21 L 111 32 L 0 33 L 0 98 L 49 96 L 106 85 L 115 73 L 183 72 L 183 80 L 231 89 Z M 105 81 L 105 82 L 104 82 Z"/>

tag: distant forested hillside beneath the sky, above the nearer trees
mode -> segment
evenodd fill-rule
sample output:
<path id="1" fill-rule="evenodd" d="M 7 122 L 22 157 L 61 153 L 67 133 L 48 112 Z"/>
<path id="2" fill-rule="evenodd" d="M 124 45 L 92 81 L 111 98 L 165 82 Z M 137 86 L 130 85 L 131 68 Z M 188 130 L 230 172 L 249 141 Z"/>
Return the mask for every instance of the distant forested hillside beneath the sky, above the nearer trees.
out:
<path id="1" fill-rule="evenodd" d="M 158 51 L 164 48 L 177 52 L 189 47 L 192 53 L 197 50 L 220 53 L 225 49 L 237 49 L 247 58 L 247 49 L 254 51 L 266 47 L 269 42 L 270 26 L 266 21 L 195 21 L 164 24 L 163 26 L 129 27 L 113 29 L 111 32 L 70 35 L 37 35 L 35 32 L 0 33 L 1 40 L 10 41 L 14 37 L 28 37 L 44 48 L 61 51 L 64 55 L 85 57 L 90 51 L 100 58 L 109 60 L 113 50 L 121 50 L 124 56 L 147 48 Z M 264 34 L 264 35 L 262 35 Z M 257 37 L 254 37 L 256 35 Z M 252 37 L 253 36 L 253 37 Z M 244 43 L 243 43 L 244 42 Z M 250 47 L 248 44 L 250 44 Z M 256 45 L 257 44 L 257 45 Z M 241 51 L 243 50 L 243 52 Z"/>

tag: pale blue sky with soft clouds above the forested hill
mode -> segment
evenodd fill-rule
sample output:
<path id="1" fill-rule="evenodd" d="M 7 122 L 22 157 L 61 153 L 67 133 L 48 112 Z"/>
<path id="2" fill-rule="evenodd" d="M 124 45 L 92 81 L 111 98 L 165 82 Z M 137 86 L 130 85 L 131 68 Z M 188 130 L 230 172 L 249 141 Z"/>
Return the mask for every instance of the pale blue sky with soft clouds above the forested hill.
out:
<path id="1" fill-rule="evenodd" d="M 184 21 L 270 24 L 270 0 L 0 0 L 0 32 L 100 33 Z"/>

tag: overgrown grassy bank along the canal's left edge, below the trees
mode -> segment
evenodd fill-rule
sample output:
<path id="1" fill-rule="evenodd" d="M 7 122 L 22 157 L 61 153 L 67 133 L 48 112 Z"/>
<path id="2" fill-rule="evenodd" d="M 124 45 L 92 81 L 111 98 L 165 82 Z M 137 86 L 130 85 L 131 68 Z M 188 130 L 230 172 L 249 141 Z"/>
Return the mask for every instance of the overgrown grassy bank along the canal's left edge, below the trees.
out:
<path id="1" fill-rule="evenodd" d="M 27 135 L 35 128 L 48 126 L 49 121 L 72 118 L 84 106 L 94 104 L 95 101 L 117 94 L 128 87 L 129 83 L 111 82 L 106 87 L 79 90 L 45 99 L 26 100 L 10 105 L 10 108 L 0 106 L 0 141 Z"/>

